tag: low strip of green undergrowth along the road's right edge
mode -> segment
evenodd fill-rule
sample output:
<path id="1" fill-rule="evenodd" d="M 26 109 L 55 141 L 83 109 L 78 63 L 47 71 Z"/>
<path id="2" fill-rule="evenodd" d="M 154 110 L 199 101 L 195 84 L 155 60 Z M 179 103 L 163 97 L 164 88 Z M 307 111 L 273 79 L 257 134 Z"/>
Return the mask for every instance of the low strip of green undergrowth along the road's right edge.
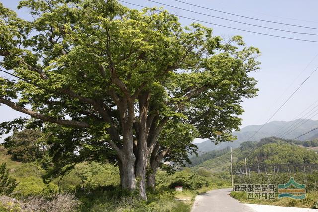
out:
<path id="1" fill-rule="evenodd" d="M 276 194 L 277 196 L 277 194 Z M 303 200 L 295 200 L 291 198 L 276 198 L 274 200 L 253 199 L 247 198 L 246 192 L 232 191 L 231 197 L 239 200 L 242 203 L 274 205 L 274 206 L 292 206 L 301 208 L 318 208 L 318 191 L 311 191 L 306 193 L 306 198 Z"/>

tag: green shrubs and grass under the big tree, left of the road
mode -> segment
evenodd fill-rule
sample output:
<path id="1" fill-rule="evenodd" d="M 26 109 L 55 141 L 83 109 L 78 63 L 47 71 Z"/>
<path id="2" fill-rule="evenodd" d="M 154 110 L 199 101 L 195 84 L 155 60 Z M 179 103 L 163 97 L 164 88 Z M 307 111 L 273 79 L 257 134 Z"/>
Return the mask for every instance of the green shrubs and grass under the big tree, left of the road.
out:
<path id="1" fill-rule="evenodd" d="M 4 149 L 0 149 L 0 162 L 19 182 L 11 197 L 0 197 L 0 212 L 189 212 L 196 195 L 229 187 L 230 182 L 227 172 L 185 168 L 168 174 L 159 170 L 156 190 L 149 189 L 148 200 L 142 201 L 138 191 L 131 194 L 120 189 L 118 168 L 111 164 L 80 163 L 63 178 L 45 184 L 41 178 L 45 171 L 36 163 L 12 161 Z M 175 186 L 183 186 L 183 191 L 175 191 Z"/>

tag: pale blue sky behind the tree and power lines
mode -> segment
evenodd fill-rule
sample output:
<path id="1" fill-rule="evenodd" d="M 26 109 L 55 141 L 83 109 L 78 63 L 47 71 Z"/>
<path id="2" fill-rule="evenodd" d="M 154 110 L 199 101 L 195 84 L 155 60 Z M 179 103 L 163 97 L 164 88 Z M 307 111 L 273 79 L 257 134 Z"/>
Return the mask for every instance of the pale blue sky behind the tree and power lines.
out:
<path id="1" fill-rule="evenodd" d="M 6 7 L 16 9 L 19 0 L 0 0 Z M 125 0 L 131 3 L 144 6 L 159 6 L 159 4 L 146 0 Z M 220 16 L 228 19 L 234 19 L 251 24 L 263 25 L 272 28 L 280 28 L 284 30 L 299 31 L 306 33 L 318 34 L 318 30 L 305 29 L 292 26 L 283 26 L 273 23 L 259 22 L 236 16 L 226 15 L 218 12 L 204 10 L 193 6 L 178 3 L 172 0 L 156 0 L 165 4 L 171 4 L 178 7 L 207 13 L 214 16 Z M 182 0 L 192 4 L 197 4 L 217 10 L 223 10 L 254 18 L 266 19 L 277 22 L 285 22 L 289 24 L 303 25 L 318 28 L 318 1 L 313 0 Z M 138 8 L 123 3 L 131 8 Z M 241 28 L 250 31 L 257 31 L 278 36 L 293 37 L 300 39 L 316 40 L 318 36 L 298 35 L 287 32 L 278 32 L 259 27 L 246 26 L 239 23 L 233 23 L 226 20 L 220 20 L 204 15 L 198 15 L 191 12 L 165 6 L 171 13 L 182 16 L 192 17 L 207 22 L 227 25 L 231 27 Z M 29 18 L 26 9 L 18 10 L 18 15 L 23 18 Z M 306 20 L 298 21 L 294 19 Z M 187 25 L 193 21 L 180 18 L 182 24 Z M 227 29 L 219 26 L 212 27 L 215 35 L 229 37 L 232 35 L 242 35 L 247 45 L 258 47 L 262 55 L 259 57 L 261 61 L 261 70 L 252 75 L 259 81 L 257 87 L 260 89 L 259 95 L 253 99 L 244 100 L 242 103 L 245 113 L 242 115 L 242 127 L 251 124 L 263 124 L 273 112 L 284 102 L 287 97 L 299 86 L 299 84 L 318 66 L 318 57 L 305 69 L 309 62 L 318 54 L 318 43 L 309 43 L 296 40 L 287 40 L 281 38 L 268 37 L 264 35 L 256 35 L 248 32 Z M 294 81 L 294 79 L 303 71 L 300 77 L 290 88 L 284 93 L 286 88 Z M 3 74 L 0 73 L 1 76 Z M 302 110 L 318 99 L 318 71 L 302 86 L 302 88 L 292 97 L 292 99 L 278 112 L 272 120 L 293 119 Z M 282 95 L 283 97 L 276 100 Z M 275 104 L 276 102 L 276 104 Z M 12 120 L 22 114 L 13 111 L 5 105 L 0 106 L 0 122 Z M 317 117 L 313 117 L 317 119 Z"/>

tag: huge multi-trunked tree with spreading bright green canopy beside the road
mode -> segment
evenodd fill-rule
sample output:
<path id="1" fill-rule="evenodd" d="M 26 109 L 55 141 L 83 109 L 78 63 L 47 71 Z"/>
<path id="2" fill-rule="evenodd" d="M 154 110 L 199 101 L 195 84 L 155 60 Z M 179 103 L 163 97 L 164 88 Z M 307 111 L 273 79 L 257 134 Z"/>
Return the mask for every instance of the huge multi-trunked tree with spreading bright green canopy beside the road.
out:
<path id="1" fill-rule="evenodd" d="M 173 15 L 116 0 L 24 0 L 19 7 L 34 20 L 0 4 L 0 64 L 24 79 L 0 78 L 0 103 L 56 129 L 52 137 L 82 138 L 55 145 L 73 147 L 69 156 L 96 146 L 115 152 L 122 187 L 139 186 L 144 199 L 147 164 L 156 145 L 167 147 L 158 138 L 168 122 L 231 141 L 242 98 L 256 94 L 248 73 L 258 70 L 259 51 L 240 36 L 224 41 L 198 23 L 182 27 Z"/>

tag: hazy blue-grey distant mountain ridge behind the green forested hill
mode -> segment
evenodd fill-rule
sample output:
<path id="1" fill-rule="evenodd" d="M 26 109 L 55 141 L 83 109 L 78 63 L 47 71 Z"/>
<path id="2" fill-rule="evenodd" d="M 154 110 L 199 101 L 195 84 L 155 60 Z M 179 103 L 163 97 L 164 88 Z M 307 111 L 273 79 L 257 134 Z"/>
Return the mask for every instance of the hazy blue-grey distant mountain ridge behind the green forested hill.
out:
<path id="1" fill-rule="evenodd" d="M 275 136 L 277 131 L 281 129 L 281 132 L 287 129 L 289 126 L 297 126 L 297 123 L 304 123 L 297 129 L 293 130 L 291 133 L 286 135 L 285 139 L 294 139 L 297 136 L 302 135 L 316 127 L 318 127 L 318 120 L 310 120 L 310 119 L 296 119 L 293 121 L 272 121 L 264 125 L 262 129 L 253 136 L 252 141 L 260 141 L 260 139 L 265 137 Z M 242 142 L 249 141 L 249 138 L 261 127 L 261 125 L 248 125 L 240 131 L 233 132 L 233 135 L 237 137 L 237 140 L 233 142 L 223 142 L 215 145 L 211 140 L 206 140 L 201 143 L 197 143 L 199 151 L 213 151 L 213 150 L 221 150 L 228 146 L 233 148 L 238 148 Z M 284 128 L 283 128 L 284 127 Z M 283 128 L 283 129 L 282 129 Z M 292 127 L 293 128 L 293 127 Z M 291 128 L 291 129 L 292 129 Z M 318 129 L 313 130 L 312 132 L 298 138 L 298 140 L 305 141 L 318 138 Z M 198 152 L 200 153 L 200 152 Z M 200 153 L 202 154 L 202 153 Z"/>

